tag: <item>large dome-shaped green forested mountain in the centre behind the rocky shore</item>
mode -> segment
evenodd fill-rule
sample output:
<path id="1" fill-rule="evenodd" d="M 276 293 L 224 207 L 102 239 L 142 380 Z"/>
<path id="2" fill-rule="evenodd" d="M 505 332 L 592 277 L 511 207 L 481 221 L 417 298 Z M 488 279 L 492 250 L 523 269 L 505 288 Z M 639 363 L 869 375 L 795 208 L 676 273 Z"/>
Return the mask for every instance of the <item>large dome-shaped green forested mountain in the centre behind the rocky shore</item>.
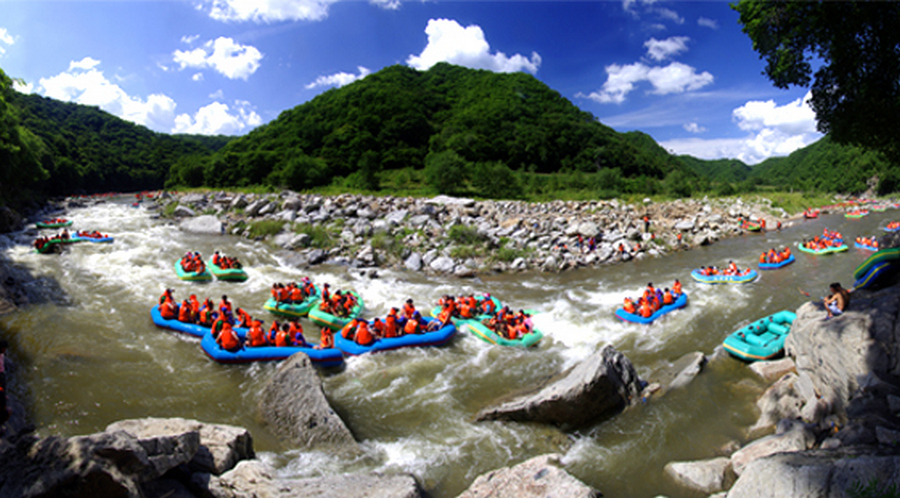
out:
<path id="1" fill-rule="evenodd" d="M 349 177 L 372 189 L 379 172 L 401 169 L 424 170 L 439 191 L 471 184 L 475 193 L 491 190 L 480 175 L 511 171 L 696 176 L 649 136 L 604 126 L 531 75 L 442 63 L 392 66 L 329 90 L 211 158 L 185 158 L 169 181 L 302 189 Z"/>

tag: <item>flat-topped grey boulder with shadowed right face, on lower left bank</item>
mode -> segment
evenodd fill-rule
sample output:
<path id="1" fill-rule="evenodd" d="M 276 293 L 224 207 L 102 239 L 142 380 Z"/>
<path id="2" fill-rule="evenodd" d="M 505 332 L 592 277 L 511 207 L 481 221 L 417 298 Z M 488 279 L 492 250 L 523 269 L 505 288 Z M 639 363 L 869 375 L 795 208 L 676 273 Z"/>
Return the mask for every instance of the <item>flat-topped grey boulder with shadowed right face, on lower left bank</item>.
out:
<path id="1" fill-rule="evenodd" d="M 180 436 L 197 433 L 198 448 L 190 460 L 194 471 L 219 475 L 241 460 L 255 458 L 253 438 L 243 427 L 206 424 L 183 418 L 141 418 L 121 420 L 106 427 L 106 432 L 124 431 L 138 439 Z"/>

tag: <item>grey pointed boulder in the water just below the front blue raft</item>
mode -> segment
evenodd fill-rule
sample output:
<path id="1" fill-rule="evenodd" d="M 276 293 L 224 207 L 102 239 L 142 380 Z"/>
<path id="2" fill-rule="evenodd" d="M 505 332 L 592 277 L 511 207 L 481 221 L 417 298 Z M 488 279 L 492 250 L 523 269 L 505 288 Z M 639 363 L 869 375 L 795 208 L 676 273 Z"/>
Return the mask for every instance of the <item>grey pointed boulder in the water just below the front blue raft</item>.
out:
<path id="1" fill-rule="evenodd" d="M 263 388 L 259 407 L 272 432 L 301 450 L 359 450 L 350 429 L 328 404 L 322 380 L 303 353 L 278 366 Z"/>

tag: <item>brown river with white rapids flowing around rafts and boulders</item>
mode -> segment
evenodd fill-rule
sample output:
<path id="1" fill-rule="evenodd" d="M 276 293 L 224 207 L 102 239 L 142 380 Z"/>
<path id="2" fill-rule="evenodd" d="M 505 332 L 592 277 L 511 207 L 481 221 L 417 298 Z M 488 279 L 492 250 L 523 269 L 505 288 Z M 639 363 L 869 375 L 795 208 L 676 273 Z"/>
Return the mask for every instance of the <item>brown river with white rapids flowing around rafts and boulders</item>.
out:
<path id="1" fill-rule="evenodd" d="M 130 207 L 129 199 L 72 209 L 74 228 L 96 229 L 114 244 L 81 243 L 62 255 L 39 255 L 24 245 L 5 249 L 13 262 L 58 286 L 51 300 L 0 317 L 0 336 L 12 344 L 19 366 L 13 389 L 29 405 L 43 435 L 102 431 L 110 422 L 140 417 L 186 417 L 248 428 L 261 458 L 281 477 L 377 470 L 411 472 L 426 490 L 455 496 L 478 475 L 547 452 L 563 455 L 566 469 L 606 496 L 702 496 L 686 491 L 663 473 L 673 460 L 716 456 L 730 441 L 745 441 L 757 416 L 763 385 L 746 365 L 727 359 L 710 364 L 687 387 L 599 421 L 578 432 L 505 422 L 479 423 L 474 414 L 497 397 L 532 386 L 613 344 L 635 364 L 642 378 L 680 356 L 711 353 L 727 334 L 782 309 L 796 309 L 808 292 L 818 298 L 828 283 L 852 285 L 853 269 L 868 252 L 814 257 L 796 250 L 802 238 L 837 229 L 845 239 L 881 234 L 896 213 L 872 213 L 860 220 L 842 215 L 800 220 L 781 232 L 747 234 L 665 258 L 581 269 L 560 274 L 521 273 L 475 280 L 380 270 L 368 279 L 343 267 L 307 271 L 286 266 L 264 242 L 232 236 L 198 236 L 154 220 Z M 19 240 L 23 240 L 19 236 Z M 764 272 L 755 283 L 705 286 L 692 281 L 699 266 L 756 267 L 759 253 L 791 245 L 796 263 Z M 240 257 L 250 278 L 244 283 L 179 281 L 172 265 L 185 251 L 204 256 L 220 250 Z M 545 313 L 535 318 L 546 337 L 528 351 L 490 346 L 458 335 L 443 348 L 407 349 L 348 360 L 346 368 L 323 375 L 325 391 L 364 448 L 347 461 L 285 447 L 260 422 L 258 404 L 276 364 L 218 365 L 199 340 L 157 329 L 149 309 L 163 289 L 181 299 L 227 294 L 254 316 L 275 281 L 309 275 L 332 289 L 352 288 L 369 315 L 383 315 L 412 297 L 430 307 L 442 294 L 490 292 L 514 308 Z M 625 295 L 647 282 L 669 286 L 676 279 L 688 306 L 651 326 L 620 322 L 613 315 Z M 304 322 L 307 338 L 318 340 Z"/>

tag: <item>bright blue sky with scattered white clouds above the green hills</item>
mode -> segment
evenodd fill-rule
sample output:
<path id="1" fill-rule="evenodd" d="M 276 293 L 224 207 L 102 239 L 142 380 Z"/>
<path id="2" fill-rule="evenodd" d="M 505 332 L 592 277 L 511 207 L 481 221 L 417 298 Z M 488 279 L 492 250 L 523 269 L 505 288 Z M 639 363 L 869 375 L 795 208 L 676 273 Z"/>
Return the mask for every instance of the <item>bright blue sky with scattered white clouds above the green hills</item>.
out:
<path id="1" fill-rule="evenodd" d="M 165 133 L 241 135 L 393 64 L 533 74 L 619 131 L 755 164 L 818 140 L 727 2 L 0 0 L 20 91 Z"/>

